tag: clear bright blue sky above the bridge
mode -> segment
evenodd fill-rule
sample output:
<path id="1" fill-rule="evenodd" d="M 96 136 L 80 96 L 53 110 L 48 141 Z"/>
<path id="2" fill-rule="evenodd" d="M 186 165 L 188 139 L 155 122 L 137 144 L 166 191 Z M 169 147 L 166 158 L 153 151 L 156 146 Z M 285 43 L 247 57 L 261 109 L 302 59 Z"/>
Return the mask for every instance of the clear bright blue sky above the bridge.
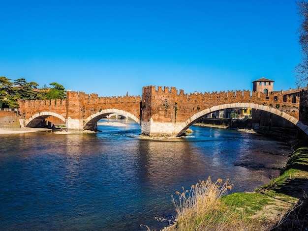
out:
<path id="1" fill-rule="evenodd" d="M 99 96 L 295 88 L 294 0 L 0 0 L 0 76 Z"/>

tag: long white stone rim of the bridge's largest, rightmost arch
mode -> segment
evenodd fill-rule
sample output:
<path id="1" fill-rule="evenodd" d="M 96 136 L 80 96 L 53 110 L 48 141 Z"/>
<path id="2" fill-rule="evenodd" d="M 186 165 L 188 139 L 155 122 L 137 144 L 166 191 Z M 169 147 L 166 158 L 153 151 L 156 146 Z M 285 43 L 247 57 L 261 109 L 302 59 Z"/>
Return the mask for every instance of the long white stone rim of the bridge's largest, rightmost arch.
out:
<path id="1" fill-rule="evenodd" d="M 293 117 L 292 115 L 281 112 L 280 110 L 278 110 L 276 108 L 271 108 L 269 106 L 259 105 L 259 104 L 255 104 L 255 103 L 232 103 L 232 104 L 217 105 L 217 106 L 207 108 L 207 109 L 205 109 L 201 112 L 198 112 L 198 113 L 192 115 L 185 122 L 179 124 L 176 127 L 177 137 L 182 136 L 184 134 L 184 132 L 186 131 L 186 129 L 188 127 L 190 127 L 194 122 L 196 122 L 200 117 L 207 115 L 211 112 L 215 112 L 215 111 L 223 110 L 223 109 L 229 109 L 229 108 L 253 108 L 253 109 L 262 110 L 262 111 L 266 111 L 266 112 L 278 115 L 278 116 L 290 121 L 291 123 L 296 125 L 298 128 L 303 130 L 308 135 L 308 126 L 307 125 L 303 124 L 301 121 L 299 121 L 297 118 Z"/>

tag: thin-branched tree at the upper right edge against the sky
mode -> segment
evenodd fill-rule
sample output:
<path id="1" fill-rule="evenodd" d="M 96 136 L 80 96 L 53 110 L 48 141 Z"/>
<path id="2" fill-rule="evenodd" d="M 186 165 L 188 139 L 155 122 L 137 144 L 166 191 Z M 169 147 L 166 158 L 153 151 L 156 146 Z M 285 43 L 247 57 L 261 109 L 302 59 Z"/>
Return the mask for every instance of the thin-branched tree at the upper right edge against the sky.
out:
<path id="1" fill-rule="evenodd" d="M 296 2 L 299 9 L 300 28 L 299 44 L 302 50 L 301 62 L 295 67 L 296 84 L 297 86 L 304 86 L 308 84 L 308 2 Z"/>

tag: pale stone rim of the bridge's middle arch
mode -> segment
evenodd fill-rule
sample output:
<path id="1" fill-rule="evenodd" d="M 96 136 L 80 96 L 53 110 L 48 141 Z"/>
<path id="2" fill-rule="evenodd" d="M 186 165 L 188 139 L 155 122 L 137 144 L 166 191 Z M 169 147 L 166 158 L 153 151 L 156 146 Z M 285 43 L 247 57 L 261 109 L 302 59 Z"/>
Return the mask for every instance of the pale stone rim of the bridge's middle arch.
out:
<path id="1" fill-rule="evenodd" d="M 123 110 L 112 108 L 112 109 L 101 110 L 100 112 L 90 115 L 88 118 L 84 120 L 84 129 L 92 131 L 97 130 L 97 121 L 103 118 L 104 116 L 110 114 L 124 115 L 126 117 L 133 119 L 134 121 L 136 121 L 136 123 L 140 124 L 140 119 L 138 119 L 135 115 L 132 115 Z"/>

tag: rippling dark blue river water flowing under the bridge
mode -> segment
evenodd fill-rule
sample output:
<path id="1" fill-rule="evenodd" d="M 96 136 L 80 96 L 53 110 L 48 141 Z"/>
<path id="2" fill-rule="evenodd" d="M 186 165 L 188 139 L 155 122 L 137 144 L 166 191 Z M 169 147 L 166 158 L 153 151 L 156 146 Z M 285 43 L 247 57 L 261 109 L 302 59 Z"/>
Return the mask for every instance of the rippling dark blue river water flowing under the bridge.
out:
<path id="1" fill-rule="evenodd" d="M 171 195 L 182 186 L 211 176 L 251 191 L 278 176 L 290 152 L 264 136 L 198 126 L 187 138 L 140 140 L 138 124 L 117 122 L 126 126 L 1 135 L 0 230 L 158 230 L 168 223 L 155 217 L 175 215 Z"/>

